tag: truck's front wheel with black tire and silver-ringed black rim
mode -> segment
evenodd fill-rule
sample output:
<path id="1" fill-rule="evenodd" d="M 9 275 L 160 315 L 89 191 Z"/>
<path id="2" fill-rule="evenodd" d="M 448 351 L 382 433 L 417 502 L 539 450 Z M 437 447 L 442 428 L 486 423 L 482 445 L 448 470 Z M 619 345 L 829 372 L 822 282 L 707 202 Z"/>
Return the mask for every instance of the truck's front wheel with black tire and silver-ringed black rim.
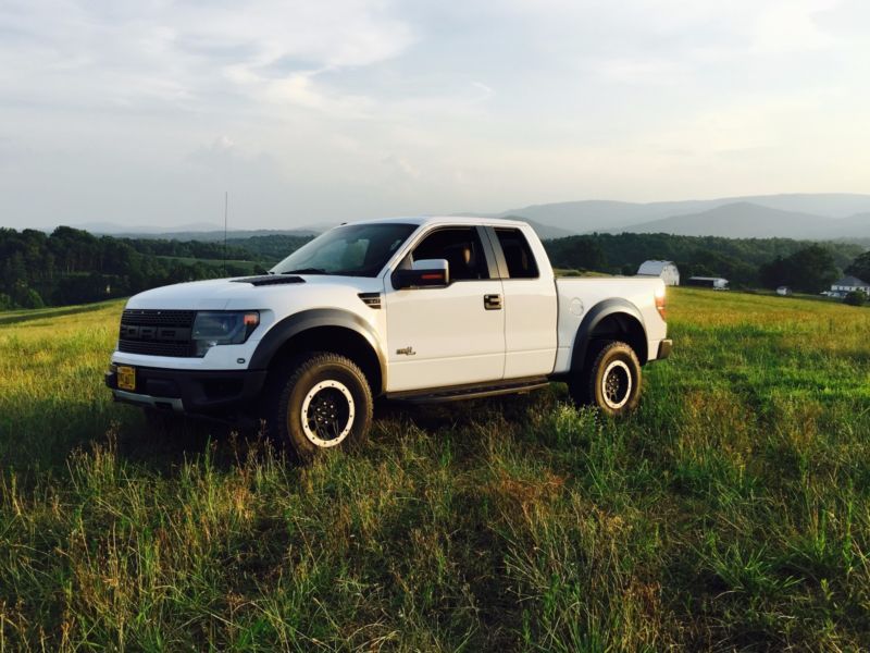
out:
<path id="1" fill-rule="evenodd" d="M 266 410 L 269 432 L 308 461 L 362 443 L 372 423 L 372 391 L 349 358 L 325 352 L 297 359 L 279 378 Z"/>

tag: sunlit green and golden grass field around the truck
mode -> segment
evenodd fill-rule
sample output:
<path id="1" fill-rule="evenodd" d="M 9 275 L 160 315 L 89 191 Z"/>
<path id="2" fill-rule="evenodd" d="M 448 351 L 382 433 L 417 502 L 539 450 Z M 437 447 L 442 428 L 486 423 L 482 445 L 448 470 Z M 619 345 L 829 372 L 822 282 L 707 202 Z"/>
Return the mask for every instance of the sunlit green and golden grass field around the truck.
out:
<path id="1" fill-rule="evenodd" d="M 0 316 L 0 651 L 870 648 L 868 309 L 678 289 L 627 420 L 384 409 L 299 469 L 113 405 L 121 308 Z"/>

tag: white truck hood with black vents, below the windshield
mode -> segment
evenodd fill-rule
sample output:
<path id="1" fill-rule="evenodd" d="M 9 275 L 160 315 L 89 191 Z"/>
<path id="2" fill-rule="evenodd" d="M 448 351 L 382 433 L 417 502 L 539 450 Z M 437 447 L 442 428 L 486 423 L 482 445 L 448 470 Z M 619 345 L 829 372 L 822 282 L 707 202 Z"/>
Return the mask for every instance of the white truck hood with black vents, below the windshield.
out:
<path id="1" fill-rule="evenodd" d="M 380 279 L 300 274 L 295 278 L 239 276 L 178 283 L 130 297 L 127 308 L 257 310 L 288 303 L 323 306 L 326 297 L 383 291 Z M 359 301 L 359 299 L 356 299 Z"/>

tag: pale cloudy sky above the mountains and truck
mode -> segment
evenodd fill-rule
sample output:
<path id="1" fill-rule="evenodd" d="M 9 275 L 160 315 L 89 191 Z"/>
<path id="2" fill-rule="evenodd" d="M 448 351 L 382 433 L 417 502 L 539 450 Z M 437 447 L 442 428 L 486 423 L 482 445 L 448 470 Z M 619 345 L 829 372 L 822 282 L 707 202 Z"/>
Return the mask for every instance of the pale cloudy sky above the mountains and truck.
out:
<path id="1" fill-rule="evenodd" d="M 0 226 L 870 193 L 866 0 L 2 0 Z"/>

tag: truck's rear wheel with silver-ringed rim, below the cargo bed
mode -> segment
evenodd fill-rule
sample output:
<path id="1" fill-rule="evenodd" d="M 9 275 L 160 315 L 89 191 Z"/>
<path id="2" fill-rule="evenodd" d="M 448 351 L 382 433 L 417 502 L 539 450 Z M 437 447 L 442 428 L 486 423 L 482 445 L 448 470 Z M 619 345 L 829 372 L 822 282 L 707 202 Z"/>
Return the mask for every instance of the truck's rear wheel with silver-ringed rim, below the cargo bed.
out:
<path id="1" fill-rule="evenodd" d="M 627 344 L 604 341 L 589 349 L 583 371 L 569 383 L 571 398 L 611 417 L 631 412 L 641 402 L 641 362 Z"/>

